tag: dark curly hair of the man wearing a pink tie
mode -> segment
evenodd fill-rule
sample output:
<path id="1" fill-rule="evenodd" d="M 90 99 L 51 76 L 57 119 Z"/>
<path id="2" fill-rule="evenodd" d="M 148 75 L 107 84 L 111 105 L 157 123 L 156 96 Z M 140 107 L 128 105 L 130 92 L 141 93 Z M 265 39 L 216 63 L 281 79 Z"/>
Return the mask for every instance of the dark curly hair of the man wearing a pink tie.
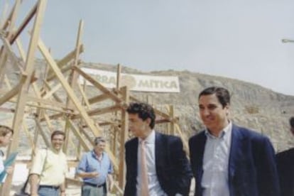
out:
<path id="1" fill-rule="evenodd" d="M 153 129 L 155 126 L 156 114 L 151 105 L 143 102 L 133 102 L 129 104 L 129 107 L 126 109 L 129 114 L 138 114 L 138 117 L 145 121 L 146 119 L 151 119 L 149 124 L 150 128 Z"/>

